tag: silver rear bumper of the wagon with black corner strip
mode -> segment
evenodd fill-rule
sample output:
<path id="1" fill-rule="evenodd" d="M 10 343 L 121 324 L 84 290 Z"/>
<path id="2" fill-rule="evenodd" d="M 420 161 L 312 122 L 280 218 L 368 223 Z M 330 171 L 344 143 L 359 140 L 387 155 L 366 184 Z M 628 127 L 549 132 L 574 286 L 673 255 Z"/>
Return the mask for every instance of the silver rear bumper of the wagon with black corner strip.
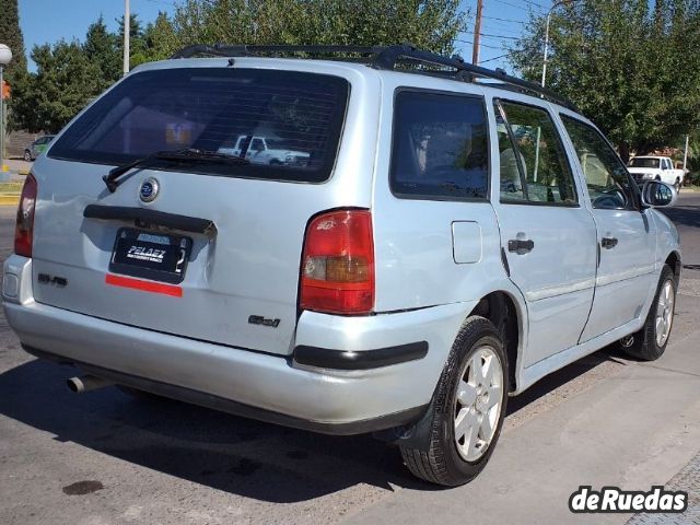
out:
<path id="1" fill-rule="evenodd" d="M 335 434 L 418 419 L 470 306 L 362 318 L 304 313 L 296 345 L 314 348 L 301 352 L 298 363 L 292 355 L 224 347 L 36 303 L 31 266 L 31 259 L 11 256 L 3 283 L 8 322 L 31 353 L 167 397 Z M 329 360 L 323 349 L 329 349 Z M 364 353 L 372 350 L 382 351 L 372 358 Z M 363 366 L 352 369 L 348 361 L 357 354 Z M 339 364 L 322 368 L 334 363 Z"/>

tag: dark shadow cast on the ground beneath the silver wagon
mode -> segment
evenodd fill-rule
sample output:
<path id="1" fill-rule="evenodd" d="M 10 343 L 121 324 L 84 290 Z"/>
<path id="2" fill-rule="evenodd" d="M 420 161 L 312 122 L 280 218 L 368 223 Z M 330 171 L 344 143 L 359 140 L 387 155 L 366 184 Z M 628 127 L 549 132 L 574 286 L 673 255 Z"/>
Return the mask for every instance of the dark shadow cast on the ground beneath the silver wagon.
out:
<path id="1" fill-rule="evenodd" d="M 511 399 L 509 413 L 609 359 L 616 358 L 600 351 L 562 369 Z M 79 373 L 39 360 L 8 370 L 0 374 L 0 413 L 59 442 L 261 501 L 306 501 L 358 483 L 438 489 L 412 478 L 398 450 L 371 435 L 314 434 L 168 399 L 138 399 L 114 386 L 77 396 L 65 380 Z"/>

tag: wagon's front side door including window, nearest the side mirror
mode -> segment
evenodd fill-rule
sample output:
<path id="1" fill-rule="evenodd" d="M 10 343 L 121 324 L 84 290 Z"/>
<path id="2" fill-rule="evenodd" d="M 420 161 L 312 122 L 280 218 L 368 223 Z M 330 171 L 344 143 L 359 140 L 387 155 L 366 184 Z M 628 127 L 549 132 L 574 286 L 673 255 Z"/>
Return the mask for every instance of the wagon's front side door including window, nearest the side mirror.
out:
<path id="1" fill-rule="evenodd" d="M 603 135 L 571 116 L 562 121 L 586 180 L 597 225 L 599 265 L 595 299 L 581 342 L 642 315 L 654 284 L 654 221 L 637 203 L 625 164 Z"/>

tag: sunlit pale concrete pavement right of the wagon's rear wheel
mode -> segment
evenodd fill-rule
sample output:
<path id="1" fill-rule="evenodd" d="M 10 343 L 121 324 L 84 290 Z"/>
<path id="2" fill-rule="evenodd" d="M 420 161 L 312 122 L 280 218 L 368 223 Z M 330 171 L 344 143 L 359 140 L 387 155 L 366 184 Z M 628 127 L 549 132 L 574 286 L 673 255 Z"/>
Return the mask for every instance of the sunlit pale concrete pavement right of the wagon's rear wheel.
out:
<path id="1" fill-rule="evenodd" d="M 697 457 L 698 348 L 696 331 L 673 341 L 656 362 L 621 361 L 618 375 L 505 432 L 490 464 L 471 483 L 398 490 L 349 522 L 622 525 L 632 513 L 574 515 L 569 498 L 582 485 L 649 490 Z M 697 495 L 697 481 L 693 487 Z M 693 523 L 681 522 L 679 515 L 670 520 L 664 523 Z"/>

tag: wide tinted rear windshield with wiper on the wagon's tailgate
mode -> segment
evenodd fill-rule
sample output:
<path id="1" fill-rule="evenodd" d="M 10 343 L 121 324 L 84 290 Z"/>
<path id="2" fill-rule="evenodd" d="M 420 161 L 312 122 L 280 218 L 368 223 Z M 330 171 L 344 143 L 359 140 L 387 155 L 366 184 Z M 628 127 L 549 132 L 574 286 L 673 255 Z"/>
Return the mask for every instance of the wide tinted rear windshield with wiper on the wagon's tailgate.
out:
<path id="1" fill-rule="evenodd" d="M 156 151 L 194 148 L 248 163 L 174 170 L 323 182 L 335 163 L 348 91 L 345 79 L 292 71 L 145 71 L 91 106 L 55 141 L 49 156 L 120 165 Z"/>

